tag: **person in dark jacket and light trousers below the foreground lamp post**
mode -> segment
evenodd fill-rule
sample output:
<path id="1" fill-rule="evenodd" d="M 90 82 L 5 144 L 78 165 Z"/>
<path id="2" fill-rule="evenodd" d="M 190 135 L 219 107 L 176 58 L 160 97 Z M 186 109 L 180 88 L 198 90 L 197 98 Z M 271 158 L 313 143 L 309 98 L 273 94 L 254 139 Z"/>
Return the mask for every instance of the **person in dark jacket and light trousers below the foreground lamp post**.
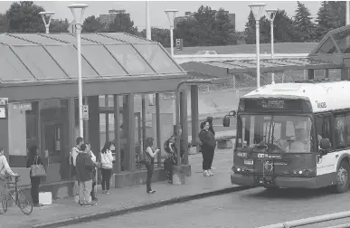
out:
<path id="1" fill-rule="evenodd" d="M 79 204 L 90 206 L 92 176 L 95 164 L 90 158 L 86 144 L 80 146 L 80 153 L 76 159 L 77 180 L 79 182 Z"/>

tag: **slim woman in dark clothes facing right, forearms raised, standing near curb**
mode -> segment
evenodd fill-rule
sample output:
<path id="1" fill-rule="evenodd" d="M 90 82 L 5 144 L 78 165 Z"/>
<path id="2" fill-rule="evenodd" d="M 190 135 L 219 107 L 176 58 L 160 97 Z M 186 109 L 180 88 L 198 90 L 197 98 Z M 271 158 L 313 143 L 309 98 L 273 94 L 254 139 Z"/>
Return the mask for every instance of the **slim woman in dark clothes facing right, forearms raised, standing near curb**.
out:
<path id="1" fill-rule="evenodd" d="M 155 157 L 156 153 L 159 152 L 159 149 L 157 148 L 154 150 L 153 147 L 153 141 L 154 139 L 152 137 L 146 138 L 146 168 L 147 168 L 147 182 L 146 182 L 146 191 L 148 194 L 154 194 L 156 193 L 155 190 L 152 190 L 151 182 L 152 182 L 152 176 L 153 176 L 153 169 L 155 168 Z"/>

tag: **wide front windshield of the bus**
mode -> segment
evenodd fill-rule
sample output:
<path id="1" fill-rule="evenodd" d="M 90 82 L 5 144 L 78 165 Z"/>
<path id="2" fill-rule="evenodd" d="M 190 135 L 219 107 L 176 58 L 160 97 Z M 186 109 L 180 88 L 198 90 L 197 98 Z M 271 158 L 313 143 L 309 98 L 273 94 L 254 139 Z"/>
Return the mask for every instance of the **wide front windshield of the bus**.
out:
<path id="1" fill-rule="evenodd" d="M 236 148 L 265 145 L 269 153 L 310 153 L 311 132 L 309 117 L 242 114 L 238 117 Z"/>

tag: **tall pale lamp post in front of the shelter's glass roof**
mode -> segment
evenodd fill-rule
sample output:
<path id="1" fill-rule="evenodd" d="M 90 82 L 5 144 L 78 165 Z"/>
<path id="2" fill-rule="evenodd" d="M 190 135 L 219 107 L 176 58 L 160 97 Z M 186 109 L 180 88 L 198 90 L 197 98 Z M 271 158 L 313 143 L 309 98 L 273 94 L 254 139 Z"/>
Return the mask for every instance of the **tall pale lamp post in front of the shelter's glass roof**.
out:
<path id="1" fill-rule="evenodd" d="M 68 5 L 71 9 L 71 14 L 74 16 L 75 26 L 76 26 L 76 36 L 77 36 L 77 50 L 78 50 L 78 89 L 79 89 L 79 134 L 80 137 L 84 135 L 84 123 L 82 119 L 82 79 L 81 79 L 81 43 L 80 43 L 80 33 L 82 16 L 88 5 L 86 4 L 72 4 Z M 80 11 L 79 11 L 80 10 Z M 79 15 L 80 13 L 80 15 Z"/>

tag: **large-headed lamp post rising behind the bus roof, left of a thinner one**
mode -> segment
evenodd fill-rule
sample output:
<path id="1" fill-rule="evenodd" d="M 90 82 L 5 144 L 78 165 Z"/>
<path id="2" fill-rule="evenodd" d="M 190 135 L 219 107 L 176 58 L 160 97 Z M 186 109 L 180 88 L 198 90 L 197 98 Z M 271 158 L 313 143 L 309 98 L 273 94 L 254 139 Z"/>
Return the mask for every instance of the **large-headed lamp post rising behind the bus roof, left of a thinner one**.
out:
<path id="1" fill-rule="evenodd" d="M 255 18 L 256 48 L 257 48 L 257 87 L 260 88 L 260 17 L 265 4 L 251 4 L 251 12 Z"/>

